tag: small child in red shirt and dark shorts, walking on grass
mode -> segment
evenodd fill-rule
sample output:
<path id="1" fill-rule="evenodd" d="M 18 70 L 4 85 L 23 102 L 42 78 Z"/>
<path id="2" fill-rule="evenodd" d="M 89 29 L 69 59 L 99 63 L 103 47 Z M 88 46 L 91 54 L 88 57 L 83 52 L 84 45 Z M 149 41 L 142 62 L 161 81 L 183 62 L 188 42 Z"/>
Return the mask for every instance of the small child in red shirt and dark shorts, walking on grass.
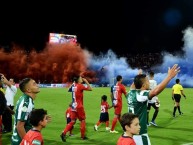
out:
<path id="1" fill-rule="evenodd" d="M 107 96 L 103 95 L 101 97 L 101 113 L 100 113 L 100 119 L 99 121 L 96 123 L 96 125 L 94 126 L 94 130 L 97 131 L 98 130 L 98 126 L 101 123 L 105 123 L 106 124 L 106 130 L 110 130 L 109 128 L 109 112 L 108 109 L 112 108 L 113 106 L 109 106 L 108 102 L 107 102 Z"/>

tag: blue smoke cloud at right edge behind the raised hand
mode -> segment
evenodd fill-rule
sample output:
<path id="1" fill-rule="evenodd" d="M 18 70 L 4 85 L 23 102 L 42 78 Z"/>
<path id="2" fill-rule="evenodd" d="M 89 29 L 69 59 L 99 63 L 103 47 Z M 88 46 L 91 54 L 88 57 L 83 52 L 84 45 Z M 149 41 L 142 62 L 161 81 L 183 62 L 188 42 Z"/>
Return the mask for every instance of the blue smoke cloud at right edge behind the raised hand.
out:
<path id="1" fill-rule="evenodd" d="M 184 46 L 182 48 L 183 52 L 179 52 L 176 55 L 163 52 L 163 64 L 161 66 L 155 67 L 157 74 L 155 79 L 160 82 L 167 74 L 168 67 L 173 64 L 178 64 L 180 66 L 180 73 L 170 82 L 169 86 L 175 83 L 175 79 L 179 78 L 180 82 L 185 87 L 192 87 L 193 83 L 193 29 L 188 27 L 183 31 L 183 42 Z"/>

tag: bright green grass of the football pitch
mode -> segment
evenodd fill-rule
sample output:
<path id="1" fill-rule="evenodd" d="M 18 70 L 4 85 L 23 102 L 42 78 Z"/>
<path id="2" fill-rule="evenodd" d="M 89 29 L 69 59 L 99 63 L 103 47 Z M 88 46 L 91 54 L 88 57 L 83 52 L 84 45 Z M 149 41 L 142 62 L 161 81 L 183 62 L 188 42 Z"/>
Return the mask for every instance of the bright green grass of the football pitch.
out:
<path id="1" fill-rule="evenodd" d="M 129 90 L 129 88 L 127 88 Z M 193 98 L 191 97 L 192 89 L 185 88 L 184 92 L 187 96 L 185 100 L 181 99 L 181 110 L 184 113 L 182 116 L 172 118 L 173 101 L 171 99 L 171 89 L 165 89 L 160 95 L 161 103 L 160 112 L 156 119 L 158 127 L 150 126 L 148 134 L 152 145 L 182 145 L 193 142 L 192 122 L 193 122 Z M 93 126 L 99 119 L 100 114 L 100 97 L 106 94 L 109 96 L 110 88 L 93 88 L 93 91 L 84 92 L 84 106 L 86 111 L 86 134 L 89 140 L 80 140 L 80 123 L 77 121 L 74 128 L 73 137 L 68 137 L 67 142 L 63 143 L 59 137 L 66 125 L 65 110 L 71 101 L 71 93 L 67 92 L 67 88 L 41 88 L 41 92 L 35 99 L 35 108 L 44 108 L 48 110 L 48 114 L 52 117 L 46 128 L 42 130 L 45 145 L 116 145 L 119 136 L 122 134 L 122 129 L 117 123 L 116 130 L 119 134 L 110 134 L 105 131 L 105 125 L 99 127 L 99 131 L 94 131 Z M 21 95 L 18 90 L 15 101 Z M 110 103 L 110 98 L 108 98 Z M 123 113 L 127 112 L 126 99 L 123 98 Z M 111 104 L 111 103 L 110 103 Z M 110 125 L 113 118 L 113 109 L 109 110 Z M 150 111 L 150 119 L 154 110 Z M 178 113 L 177 113 L 178 114 Z M 3 145 L 10 145 L 10 134 L 3 134 Z"/>

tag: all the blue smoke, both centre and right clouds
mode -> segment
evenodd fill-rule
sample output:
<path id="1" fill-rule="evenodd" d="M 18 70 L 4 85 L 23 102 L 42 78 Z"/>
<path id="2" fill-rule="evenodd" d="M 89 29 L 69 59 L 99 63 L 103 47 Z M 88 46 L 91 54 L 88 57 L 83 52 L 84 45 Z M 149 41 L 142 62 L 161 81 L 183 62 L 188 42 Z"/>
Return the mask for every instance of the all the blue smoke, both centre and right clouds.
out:
<path id="1" fill-rule="evenodd" d="M 169 67 L 172 67 L 174 64 L 179 65 L 181 71 L 171 80 L 168 87 L 175 84 L 177 78 L 180 79 L 184 87 L 193 86 L 193 29 L 188 27 L 183 31 L 183 34 L 183 52 L 176 52 L 175 55 L 162 52 L 163 63 L 151 68 L 151 70 L 155 72 L 155 80 L 160 83 L 167 76 Z M 92 63 L 92 67 L 98 70 L 101 82 L 113 83 L 116 75 L 122 75 L 126 85 L 130 85 L 138 72 L 137 68 L 131 69 L 126 58 L 117 58 L 112 50 L 109 50 L 106 54 L 92 57 L 90 62 Z"/>

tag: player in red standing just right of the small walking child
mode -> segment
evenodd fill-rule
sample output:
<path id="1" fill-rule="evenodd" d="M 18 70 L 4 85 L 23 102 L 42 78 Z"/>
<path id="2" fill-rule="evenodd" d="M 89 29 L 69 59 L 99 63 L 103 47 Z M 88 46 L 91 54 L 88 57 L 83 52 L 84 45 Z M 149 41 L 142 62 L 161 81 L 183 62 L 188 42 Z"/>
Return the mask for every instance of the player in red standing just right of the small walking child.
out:
<path id="1" fill-rule="evenodd" d="M 122 81 L 123 81 L 122 76 L 118 75 L 116 79 L 117 79 L 116 85 L 113 85 L 111 87 L 111 99 L 113 102 L 113 107 L 115 109 L 115 112 L 114 112 L 115 115 L 112 121 L 112 127 L 110 130 L 110 133 L 118 133 L 118 131 L 115 130 L 115 126 L 116 126 L 117 120 L 120 121 L 120 116 L 122 111 L 122 94 L 124 94 L 125 97 L 127 94 L 126 88 L 122 84 Z"/>

